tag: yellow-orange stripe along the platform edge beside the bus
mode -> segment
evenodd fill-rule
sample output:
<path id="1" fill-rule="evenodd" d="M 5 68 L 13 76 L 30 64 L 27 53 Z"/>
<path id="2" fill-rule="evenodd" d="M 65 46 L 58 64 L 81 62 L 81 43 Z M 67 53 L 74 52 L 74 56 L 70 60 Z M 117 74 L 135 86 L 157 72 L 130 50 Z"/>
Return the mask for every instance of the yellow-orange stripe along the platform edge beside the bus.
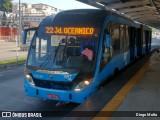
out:
<path id="1" fill-rule="evenodd" d="M 131 89 L 136 85 L 136 83 L 140 80 L 140 78 L 143 76 L 144 72 L 149 66 L 149 61 L 134 75 L 127 84 L 104 106 L 104 108 L 101 110 L 108 111 L 109 114 L 107 114 L 107 117 L 103 117 L 101 115 L 101 112 L 99 112 L 96 117 L 93 120 L 109 120 L 109 118 L 112 116 L 112 113 L 116 111 L 118 106 L 123 102 L 125 97 L 129 94 Z M 99 116 L 99 117 L 98 117 Z"/>

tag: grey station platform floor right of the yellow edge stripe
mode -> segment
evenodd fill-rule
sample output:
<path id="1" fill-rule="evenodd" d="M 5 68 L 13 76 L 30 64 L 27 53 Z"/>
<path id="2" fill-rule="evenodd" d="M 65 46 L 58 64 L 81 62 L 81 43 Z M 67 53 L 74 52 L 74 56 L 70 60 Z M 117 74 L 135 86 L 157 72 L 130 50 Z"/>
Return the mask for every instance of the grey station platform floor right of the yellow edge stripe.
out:
<path id="1" fill-rule="evenodd" d="M 112 117 L 110 120 L 159 120 L 147 117 L 147 113 L 160 111 L 160 52 L 150 58 L 149 67 L 116 111 L 137 111 L 135 117 Z M 146 111 L 146 112 L 145 112 Z M 145 115 L 142 117 L 141 115 Z M 149 114 L 148 114 L 149 115 Z M 156 115 L 156 114 L 155 114 Z"/>

